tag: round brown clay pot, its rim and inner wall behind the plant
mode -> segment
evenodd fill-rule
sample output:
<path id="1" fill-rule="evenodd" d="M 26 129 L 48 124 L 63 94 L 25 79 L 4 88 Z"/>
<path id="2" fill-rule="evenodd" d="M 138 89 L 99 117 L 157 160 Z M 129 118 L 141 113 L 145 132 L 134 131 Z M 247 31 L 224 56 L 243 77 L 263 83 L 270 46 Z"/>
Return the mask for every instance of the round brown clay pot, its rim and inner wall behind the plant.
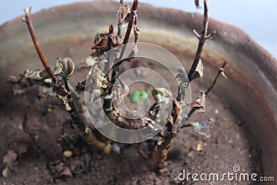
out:
<path id="1" fill-rule="evenodd" d="M 48 60 L 53 61 L 59 55 L 74 61 L 85 58 L 91 52 L 93 35 L 106 31 L 109 24 L 116 25 L 117 8 L 118 3 L 113 1 L 93 1 L 35 13 L 33 23 Z M 140 41 L 158 44 L 175 53 L 186 69 L 197 48 L 192 30 L 199 29 L 201 22 L 202 15 L 195 13 L 139 5 Z M 262 149 L 263 172 L 277 177 L 277 61 L 239 28 L 211 19 L 209 30 L 217 34 L 204 46 L 202 82 L 210 84 L 214 71 L 224 59 L 228 60 L 229 80 L 218 83 L 214 92 L 247 122 Z M 41 64 L 20 18 L 0 27 L 0 40 L 3 97 L 12 93 L 4 82 L 8 76 Z"/>

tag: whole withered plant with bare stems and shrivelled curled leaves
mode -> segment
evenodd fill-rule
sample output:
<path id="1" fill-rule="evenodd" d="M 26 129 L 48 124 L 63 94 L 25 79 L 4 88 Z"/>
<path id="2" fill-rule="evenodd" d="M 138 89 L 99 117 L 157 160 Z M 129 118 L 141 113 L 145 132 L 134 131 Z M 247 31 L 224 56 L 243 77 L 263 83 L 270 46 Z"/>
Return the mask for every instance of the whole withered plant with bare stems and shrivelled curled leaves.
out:
<path id="1" fill-rule="evenodd" d="M 210 130 L 213 120 L 208 121 L 199 121 L 199 122 L 190 122 L 188 118 L 195 112 L 205 112 L 206 109 L 206 98 L 210 91 L 215 86 L 217 78 L 220 75 L 226 78 L 224 73 L 224 67 L 226 61 L 219 69 L 215 80 L 211 87 L 206 91 L 200 91 L 200 96 L 193 103 L 188 103 L 185 100 L 186 91 L 189 87 L 190 82 L 197 78 L 203 77 L 204 65 L 201 60 L 201 55 L 205 42 L 208 39 L 211 39 L 215 35 L 215 31 L 208 34 L 208 1 L 204 0 L 204 19 L 201 33 L 197 33 L 196 30 L 193 30 L 197 39 L 199 39 L 199 44 L 197 48 L 197 53 L 195 54 L 195 59 L 193 61 L 192 67 L 186 76 L 186 72 L 182 67 L 178 68 L 178 75 L 176 79 L 179 80 L 179 89 L 177 97 L 172 97 L 172 94 L 164 88 L 155 88 L 152 89 L 152 96 L 154 97 L 155 103 L 150 106 L 148 114 L 139 118 L 138 121 L 129 121 L 123 116 L 120 115 L 120 112 L 116 112 L 116 106 L 121 103 L 122 100 L 125 100 L 129 96 L 129 87 L 125 85 L 123 81 L 118 78 L 120 73 L 120 66 L 125 62 L 123 58 L 123 53 L 125 52 L 125 45 L 129 41 L 129 36 L 131 31 L 134 31 L 134 45 L 132 46 L 132 52 L 129 53 L 128 62 L 131 62 L 136 58 L 136 44 L 139 42 L 140 29 L 138 26 L 138 16 L 136 14 L 138 10 L 139 1 L 134 0 L 132 7 L 120 1 L 118 12 L 116 14 L 118 18 L 118 32 L 114 33 L 114 26 L 110 25 L 107 33 L 97 33 L 94 39 L 94 45 L 91 49 L 95 50 L 97 53 L 96 58 L 93 58 L 92 55 L 82 62 L 82 67 L 91 67 L 91 71 L 87 80 L 82 80 L 78 82 L 78 85 L 74 88 L 68 81 L 68 78 L 72 75 L 75 70 L 75 64 L 70 58 L 57 58 L 53 65 L 50 67 L 42 49 L 39 46 L 35 30 L 33 28 L 33 23 L 30 17 L 30 11 L 25 9 L 25 15 L 23 20 L 26 22 L 30 36 L 33 39 L 35 49 L 39 55 L 39 58 L 44 66 L 44 69 L 35 69 L 35 70 L 26 70 L 20 78 L 15 76 L 10 76 L 8 82 L 13 86 L 15 94 L 21 94 L 27 87 L 38 84 L 41 87 L 51 89 L 51 93 L 60 100 L 60 105 L 70 114 L 71 127 L 75 130 L 75 136 L 78 135 L 82 140 L 87 143 L 91 150 L 102 150 L 105 153 L 114 152 L 120 153 L 120 148 L 116 142 L 112 142 L 109 139 L 101 136 L 100 133 L 89 124 L 89 118 L 84 106 L 84 101 L 80 98 L 80 91 L 90 91 L 91 97 L 90 101 L 97 100 L 98 98 L 103 98 L 102 108 L 105 111 L 105 114 L 116 125 L 125 127 L 128 129 L 137 129 L 140 127 L 145 127 L 150 125 L 150 127 L 155 130 L 154 125 L 157 125 L 156 122 L 159 122 L 159 109 L 161 104 L 168 104 L 172 98 L 172 112 L 166 127 L 157 134 L 157 144 L 152 150 L 151 156 L 143 154 L 141 150 L 139 151 L 143 157 L 150 157 L 150 168 L 152 170 L 157 170 L 158 168 L 163 168 L 166 166 L 166 158 L 168 151 L 170 150 L 174 139 L 176 138 L 180 128 L 184 127 L 194 127 L 195 131 L 199 134 L 202 134 L 206 137 L 211 136 Z M 199 1 L 195 1 L 195 5 L 199 8 Z M 122 36 L 122 26 L 124 23 L 127 24 L 127 30 L 125 36 Z M 116 49 L 118 46 L 117 53 L 118 55 L 111 56 L 112 60 L 118 60 L 120 62 L 113 65 L 111 58 L 102 58 L 102 54 L 107 53 L 111 49 Z M 111 69 L 110 69 L 111 68 Z M 109 70 L 110 69 L 110 70 Z M 104 71 L 109 71 L 105 73 Z M 85 86 L 88 83 L 89 86 Z M 113 91 L 114 87 L 114 91 Z M 123 91 L 120 91 L 123 89 Z M 144 94 L 144 95 L 143 95 Z M 141 96 L 147 98 L 147 93 L 137 93 L 137 97 L 132 97 L 134 101 L 138 100 Z M 133 101 L 133 100 L 132 100 Z M 185 106 L 191 107 L 191 110 L 188 116 L 182 118 L 181 112 Z M 139 124 L 136 124 L 139 123 Z M 77 137 L 78 137 L 77 136 Z M 62 135 L 58 141 L 60 143 L 69 143 L 71 136 L 68 134 Z M 64 157 L 71 157 L 71 150 L 64 150 Z M 89 159 L 87 160 L 89 161 Z M 53 166 L 59 166 L 60 163 L 52 164 Z M 51 169 L 51 167 L 49 167 Z M 70 169 L 64 168 L 62 173 L 59 175 L 54 175 L 55 177 L 60 176 L 72 177 Z"/>

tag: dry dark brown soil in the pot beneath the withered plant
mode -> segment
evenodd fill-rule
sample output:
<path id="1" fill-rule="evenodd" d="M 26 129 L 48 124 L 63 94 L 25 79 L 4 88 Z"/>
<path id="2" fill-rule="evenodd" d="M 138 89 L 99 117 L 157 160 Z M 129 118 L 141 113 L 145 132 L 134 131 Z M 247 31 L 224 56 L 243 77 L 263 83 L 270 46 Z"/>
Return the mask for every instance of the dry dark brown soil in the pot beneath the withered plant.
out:
<path id="1" fill-rule="evenodd" d="M 82 69 L 77 73 L 81 76 L 87 71 Z M 72 84 L 75 83 L 73 80 Z M 193 85 L 193 98 L 199 96 L 201 87 L 200 84 Z M 10 94 L 0 101 L 0 170 L 5 168 L 2 158 L 9 150 L 18 155 L 13 173 L 7 178 L 0 177 L 0 184 L 207 184 L 192 180 L 180 182 L 178 175 L 183 170 L 186 173 L 222 175 L 228 171 L 233 173 L 235 165 L 240 166 L 242 173 L 262 175 L 261 152 L 249 133 L 247 123 L 240 121 L 229 104 L 214 94 L 207 98 L 206 113 L 195 113 L 190 119 L 206 121 L 215 118 L 211 138 L 200 136 L 193 127 L 182 129 L 168 154 L 168 166 L 157 173 L 149 170 L 150 159 L 139 153 L 139 148 L 144 148 L 147 157 L 149 143 L 118 144 L 120 154 L 111 152 L 106 155 L 104 152 L 91 152 L 82 141 L 76 141 L 78 147 L 73 151 L 73 157 L 64 159 L 57 138 L 62 136 L 64 125 L 69 130 L 65 122 L 70 116 L 62 108 L 44 114 L 50 100 L 39 94 L 37 86 L 18 96 L 10 90 Z M 61 164 L 61 161 L 62 168 L 78 168 L 75 173 L 64 173 L 64 177 L 54 182 L 53 166 Z M 234 183 L 250 182 L 229 182 L 228 179 L 208 182 Z"/>

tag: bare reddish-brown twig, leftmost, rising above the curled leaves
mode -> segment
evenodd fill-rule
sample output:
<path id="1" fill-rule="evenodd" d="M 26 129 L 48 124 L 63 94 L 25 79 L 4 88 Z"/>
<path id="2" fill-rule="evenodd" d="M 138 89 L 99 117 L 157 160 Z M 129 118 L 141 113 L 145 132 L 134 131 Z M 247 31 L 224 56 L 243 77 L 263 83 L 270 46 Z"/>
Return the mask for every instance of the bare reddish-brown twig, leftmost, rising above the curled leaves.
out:
<path id="1" fill-rule="evenodd" d="M 44 65 L 45 70 L 47 71 L 47 73 L 49 74 L 49 76 L 52 78 L 53 82 L 57 82 L 57 77 L 55 76 L 55 74 L 53 73 L 51 67 L 49 66 L 45 55 L 41 49 L 41 47 L 39 46 L 39 41 L 37 39 L 37 35 L 35 34 L 35 29 L 33 26 L 33 22 L 32 19 L 30 18 L 30 11 L 31 11 L 31 7 L 28 10 L 27 8 L 24 9 L 24 21 L 26 22 L 29 32 L 30 32 L 30 37 L 32 37 L 33 39 L 33 43 L 35 45 L 35 49 L 37 50 L 37 54 L 39 55 L 40 60 L 42 61 L 42 64 Z"/>

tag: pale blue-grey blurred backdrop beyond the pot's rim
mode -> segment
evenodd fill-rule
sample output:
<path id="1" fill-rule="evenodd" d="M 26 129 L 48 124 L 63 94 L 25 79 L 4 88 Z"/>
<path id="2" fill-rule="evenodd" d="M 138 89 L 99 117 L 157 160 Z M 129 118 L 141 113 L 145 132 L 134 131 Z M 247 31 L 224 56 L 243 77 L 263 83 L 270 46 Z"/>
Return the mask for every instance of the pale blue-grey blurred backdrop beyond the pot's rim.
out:
<path id="1" fill-rule="evenodd" d="M 10 21 L 15 17 L 22 16 L 24 14 L 23 9 L 29 6 L 32 6 L 33 12 L 37 12 L 52 6 L 60 6 L 74 2 L 80 1 L 1 0 L 0 24 L 4 24 L 6 21 Z M 132 2 L 132 0 L 127 2 Z M 194 0 L 139 0 L 139 2 L 150 3 L 158 7 L 175 8 L 187 12 L 203 12 L 203 8 L 199 10 L 195 8 Z M 202 0 L 199 3 L 203 6 Z M 209 0 L 209 3 L 211 17 L 242 28 L 256 42 L 277 58 L 277 37 L 275 36 L 277 33 L 276 0 Z"/>

